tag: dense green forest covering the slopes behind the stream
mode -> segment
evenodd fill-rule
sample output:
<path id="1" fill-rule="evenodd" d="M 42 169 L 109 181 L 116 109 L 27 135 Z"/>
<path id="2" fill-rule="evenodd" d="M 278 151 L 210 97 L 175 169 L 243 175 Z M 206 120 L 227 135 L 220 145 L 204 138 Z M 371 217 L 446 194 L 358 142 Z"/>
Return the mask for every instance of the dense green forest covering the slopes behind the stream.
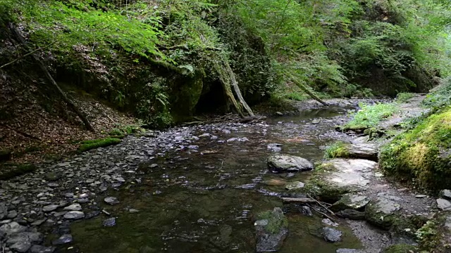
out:
<path id="1" fill-rule="evenodd" d="M 426 92 L 450 72 L 450 10 L 438 0 L 2 0 L 0 65 L 27 53 L 11 40 L 14 23 L 59 84 L 163 127 L 230 110 L 221 82 L 235 76 L 251 105 L 306 91 Z M 16 87 L 3 93 L 30 92 L 42 75 L 33 66 L 1 67 L 3 87 Z"/>

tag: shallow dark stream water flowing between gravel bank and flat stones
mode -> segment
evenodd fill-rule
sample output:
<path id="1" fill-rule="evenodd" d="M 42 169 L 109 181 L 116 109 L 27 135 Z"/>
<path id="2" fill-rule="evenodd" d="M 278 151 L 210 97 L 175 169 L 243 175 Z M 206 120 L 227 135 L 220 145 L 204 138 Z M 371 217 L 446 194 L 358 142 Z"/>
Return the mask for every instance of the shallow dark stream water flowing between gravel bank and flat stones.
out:
<path id="1" fill-rule="evenodd" d="M 217 138 L 201 137 L 195 141 L 197 150 L 174 150 L 140 164 L 141 183 L 111 190 L 109 195 L 121 203 L 102 206 L 116 217 L 117 225 L 101 226 L 107 216 L 73 223 L 75 247 L 71 250 L 254 252 L 253 216 L 283 207 L 278 196 L 286 192 L 285 182 L 307 181 L 311 174 L 271 174 L 266 158 L 273 152 L 267 145 L 280 143 L 280 153 L 319 162 L 324 145 L 347 138 L 334 130 L 346 112 L 339 107 L 304 110 L 264 124 L 230 124 L 230 131 L 209 125 L 192 132 Z M 319 216 L 286 215 L 290 233 L 280 252 L 333 253 L 361 247 L 346 226 L 339 227 L 342 242 L 330 243 L 319 234 L 323 227 Z"/>

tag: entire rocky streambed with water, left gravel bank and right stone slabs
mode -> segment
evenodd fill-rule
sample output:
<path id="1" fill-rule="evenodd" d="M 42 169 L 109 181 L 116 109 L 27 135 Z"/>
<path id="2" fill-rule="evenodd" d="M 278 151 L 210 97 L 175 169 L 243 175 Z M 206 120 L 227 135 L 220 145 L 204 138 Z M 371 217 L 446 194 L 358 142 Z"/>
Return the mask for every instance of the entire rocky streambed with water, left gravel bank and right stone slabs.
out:
<path id="1" fill-rule="evenodd" d="M 1 247 L 343 253 L 414 244 L 416 221 L 432 216 L 435 199 L 384 179 L 368 160 L 378 145 L 335 131 L 355 104 L 303 103 L 299 115 L 265 122 L 154 131 L 38 164 L 1 182 Z M 336 140 L 364 159 L 323 161 Z"/>

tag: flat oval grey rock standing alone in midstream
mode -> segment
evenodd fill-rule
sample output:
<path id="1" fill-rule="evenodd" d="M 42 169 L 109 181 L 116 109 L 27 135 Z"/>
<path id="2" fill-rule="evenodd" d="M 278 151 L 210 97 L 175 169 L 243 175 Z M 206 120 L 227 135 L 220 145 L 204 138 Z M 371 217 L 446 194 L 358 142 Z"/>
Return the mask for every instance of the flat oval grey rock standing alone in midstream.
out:
<path id="1" fill-rule="evenodd" d="M 280 173 L 287 171 L 309 171 L 314 165 L 309 160 L 294 155 L 271 155 L 268 157 L 270 171 Z"/>

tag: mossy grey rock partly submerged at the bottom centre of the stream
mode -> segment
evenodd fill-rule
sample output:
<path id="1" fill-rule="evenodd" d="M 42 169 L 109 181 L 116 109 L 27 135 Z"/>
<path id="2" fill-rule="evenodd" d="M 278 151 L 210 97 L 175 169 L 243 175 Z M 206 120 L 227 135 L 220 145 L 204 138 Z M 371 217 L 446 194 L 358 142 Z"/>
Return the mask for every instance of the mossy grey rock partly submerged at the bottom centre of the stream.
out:
<path id="1" fill-rule="evenodd" d="M 280 207 L 263 212 L 255 222 L 257 252 L 274 252 L 282 247 L 288 235 L 288 221 Z"/>

